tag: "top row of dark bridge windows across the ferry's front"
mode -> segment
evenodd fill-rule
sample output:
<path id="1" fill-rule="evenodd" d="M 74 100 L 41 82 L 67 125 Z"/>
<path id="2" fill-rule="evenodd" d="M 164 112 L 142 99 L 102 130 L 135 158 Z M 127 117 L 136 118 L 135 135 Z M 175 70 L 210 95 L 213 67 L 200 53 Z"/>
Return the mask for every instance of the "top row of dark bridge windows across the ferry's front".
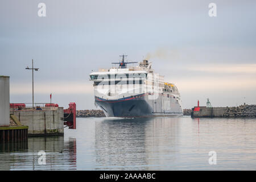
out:
<path id="1" fill-rule="evenodd" d="M 110 78 L 146 78 L 147 73 L 130 73 L 130 74 L 108 74 L 108 75 L 90 75 L 90 79 L 110 79 Z"/>

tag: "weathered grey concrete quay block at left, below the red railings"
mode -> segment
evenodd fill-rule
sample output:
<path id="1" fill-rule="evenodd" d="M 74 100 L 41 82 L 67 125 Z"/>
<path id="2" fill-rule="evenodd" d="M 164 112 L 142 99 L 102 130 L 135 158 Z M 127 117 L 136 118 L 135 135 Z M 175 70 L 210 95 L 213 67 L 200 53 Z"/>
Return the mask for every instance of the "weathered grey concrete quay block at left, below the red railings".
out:
<path id="1" fill-rule="evenodd" d="M 19 119 L 22 125 L 28 126 L 28 135 L 64 135 L 63 107 L 43 110 L 24 109 L 11 113 Z"/>

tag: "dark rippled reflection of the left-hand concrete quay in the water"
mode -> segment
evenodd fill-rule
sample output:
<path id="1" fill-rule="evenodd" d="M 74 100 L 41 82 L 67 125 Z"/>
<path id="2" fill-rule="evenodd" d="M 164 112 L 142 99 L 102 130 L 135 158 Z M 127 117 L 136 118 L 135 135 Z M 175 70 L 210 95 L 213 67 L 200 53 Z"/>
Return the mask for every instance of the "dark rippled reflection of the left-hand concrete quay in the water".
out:
<path id="1" fill-rule="evenodd" d="M 45 152 L 45 162 L 43 155 Z M 76 169 L 76 138 L 28 137 L 26 142 L 0 143 L 1 170 Z"/>

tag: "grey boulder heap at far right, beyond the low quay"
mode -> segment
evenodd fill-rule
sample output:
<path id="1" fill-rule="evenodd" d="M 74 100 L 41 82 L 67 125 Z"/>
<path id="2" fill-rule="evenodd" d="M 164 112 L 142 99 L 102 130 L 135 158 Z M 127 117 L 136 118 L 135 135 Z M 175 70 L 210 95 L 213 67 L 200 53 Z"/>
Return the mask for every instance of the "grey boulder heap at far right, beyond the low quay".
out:
<path id="1" fill-rule="evenodd" d="M 256 118 L 256 105 L 241 105 L 238 107 L 226 107 L 223 117 L 229 118 Z"/>

